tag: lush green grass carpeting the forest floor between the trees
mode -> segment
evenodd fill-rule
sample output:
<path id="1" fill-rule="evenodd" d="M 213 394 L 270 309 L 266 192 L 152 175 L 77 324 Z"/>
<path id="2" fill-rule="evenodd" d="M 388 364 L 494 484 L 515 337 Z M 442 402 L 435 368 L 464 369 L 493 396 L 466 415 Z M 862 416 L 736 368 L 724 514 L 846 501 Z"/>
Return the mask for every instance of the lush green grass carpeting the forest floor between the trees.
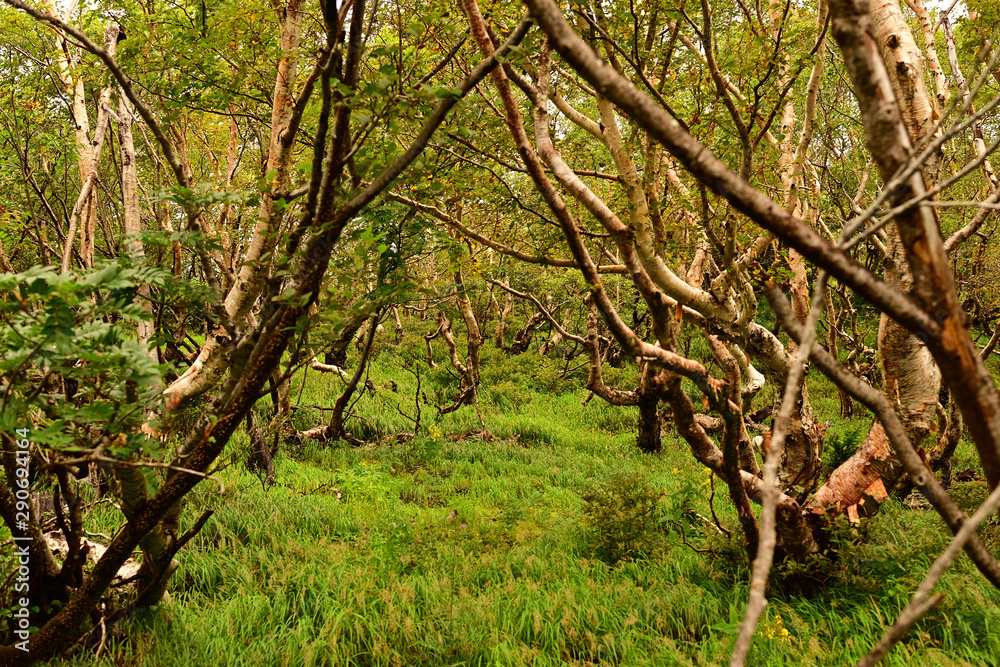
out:
<path id="1" fill-rule="evenodd" d="M 354 407 L 363 419 L 349 422 L 366 440 L 412 430 L 402 412 L 416 414 L 407 369 L 417 354 L 380 345 Z M 563 362 L 535 354 L 504 359 L 484 347 L 484 356 L 491 438 L 474 406 L 436 419 L 432 404 L 455 384 L 446 360 L 422 362 L 427 399 L 409 442 L 286 444 L 265 489 L 238 434 L 216 475 L 224 490 L 205 482 L 190 497 L 188 522 L 204 508 L 215 514 L 179 555 L 170 603 L 121 624 L 124 637 L 96 660 L 84 652 L 59 664 L 728 663 L 748 564 L 724 485 L 672 429 L 662 454 L 639 452 L 634 409 L 583 404 L 585 368 L 561 377 Z M 635 380 L 634 369 L 607 375 L 622 387 Z M 315 371 L 299 380 L 295 426 L 318 424 L 315 406 L 331 406 L 341 386 Z M 832 465 L 870 417 L 839 418 L 836 392 L 816 372 L 809 389 L 817 417 L 835 420 Z M 967 443 L 954 469 L 976 472 Z M 968 509 L 985 483 L 953 492 Z M 111 530 L 110 519 L 95 513 L 88 528 Z M 932 511 L 895 500 L 835 532 L 835 560 L 776 568 L 748 665 L 854 664 L 948 541 Z M 1000 528 L 986 532 L 996 552 Z M 944 600 L 884 664 L 1000 664 L 1000 593 L 964 555 L 938 590 Z"/>

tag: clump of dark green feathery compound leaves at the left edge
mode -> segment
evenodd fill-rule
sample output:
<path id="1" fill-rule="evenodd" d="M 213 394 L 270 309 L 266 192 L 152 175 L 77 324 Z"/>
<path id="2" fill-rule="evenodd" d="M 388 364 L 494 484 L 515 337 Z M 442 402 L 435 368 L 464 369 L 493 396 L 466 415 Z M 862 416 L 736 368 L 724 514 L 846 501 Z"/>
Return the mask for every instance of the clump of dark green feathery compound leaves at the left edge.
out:
<path id="1" fill-rule="evenodd" d="M 127 458 L 145 446 L 155 455 L 155 442 L 134 432 L 158 404 L 167 369 L 131 330 L 150 318 L 137 287 L 164 287 L 168 275 L 117 262 L 76 275 L 43 267 L 0 274 L 2 427 L 13 431 L 36 415 L 32 440 L 46 448 L 89 449 L 106 437 L 111 454 Z M 63 386 L 52 382 L 56 370 Z"/>

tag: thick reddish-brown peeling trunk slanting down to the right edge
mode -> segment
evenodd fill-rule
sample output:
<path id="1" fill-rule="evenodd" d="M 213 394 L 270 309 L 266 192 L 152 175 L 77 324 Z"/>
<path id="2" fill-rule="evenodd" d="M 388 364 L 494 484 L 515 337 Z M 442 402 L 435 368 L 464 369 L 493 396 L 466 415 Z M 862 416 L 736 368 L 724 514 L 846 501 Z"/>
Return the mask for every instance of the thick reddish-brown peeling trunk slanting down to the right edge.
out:
<path id="1" fill-rule="evenodd" d="M 859 0 L 831 2 L 833 34 L 862 109 L 869 149 L 885 180 L 906 164 L 913 146 L 910 135 L 914 141 L 923 136 L 922 119 L 930 106 L 926 93 L 923 98 L 919 95 L 922 79 L 915 78 L 919 71 L 902 33 L 905 23 L 893 18 L 891 7 L 882 14 L 876 11 L 876 7 L 891 4 L 891 0 L 880 0 L 869 18 Z M 895 12 L 898 9 L 897 5 Z M 887 17 L 886 25 L 879 25 L 881 16 Z M 878 57 L 873 30 L 887 40 L 883 55 L 888 67 Z M 894 93 L 897 85 L 901 91 L 898 99 Z M 918 172 L 896 188 L 890 201 L 896 204 L 925 191 L 924 176 Z M 897 218 L 896 228 L 913 280 L 912 293 L 935 319 L 932 326 L 906 328 L 920 334 L 937 361 L 969 426 L 990 487 L 995 488 L 1000 484 L 1000 393 L 969 336 L 936 212 L 929 206 L 910 209 Z M 915 390 L 916 384 L 904 384 L 898 393 L 912 396 L 911 388 Z"/>

